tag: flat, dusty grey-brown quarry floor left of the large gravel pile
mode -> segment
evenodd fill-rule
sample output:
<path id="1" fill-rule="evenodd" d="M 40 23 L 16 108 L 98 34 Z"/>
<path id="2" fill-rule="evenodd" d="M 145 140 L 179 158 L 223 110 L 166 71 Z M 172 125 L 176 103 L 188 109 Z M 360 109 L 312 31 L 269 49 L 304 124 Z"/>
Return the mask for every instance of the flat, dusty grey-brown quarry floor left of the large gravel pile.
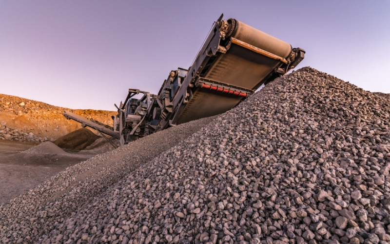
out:
<path id="1" fill-rule="evenodd" d="M 94 156 L 67 151 L 67 156 L 22 154 L 38 143 L 0 140 L 0 204 L 7 202 L 56 175 L 68 166 Z"/>

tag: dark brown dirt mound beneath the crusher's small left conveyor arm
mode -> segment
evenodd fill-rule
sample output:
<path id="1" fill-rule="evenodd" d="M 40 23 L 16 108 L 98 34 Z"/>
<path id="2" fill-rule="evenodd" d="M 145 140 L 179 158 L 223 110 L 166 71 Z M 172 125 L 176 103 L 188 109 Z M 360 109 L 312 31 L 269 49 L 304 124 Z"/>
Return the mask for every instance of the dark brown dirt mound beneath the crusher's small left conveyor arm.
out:
<path id="1" fill-rule="evenodd" d="M 54 141 L 54 144 L 58 145 L 62 149 L 83 150 L 99 138 L 100 137 L 95 135 L 92 131 L 86 128 L 81 128 L 72 131 L 65 136 L 61 136 L 59 139 Z"/>

